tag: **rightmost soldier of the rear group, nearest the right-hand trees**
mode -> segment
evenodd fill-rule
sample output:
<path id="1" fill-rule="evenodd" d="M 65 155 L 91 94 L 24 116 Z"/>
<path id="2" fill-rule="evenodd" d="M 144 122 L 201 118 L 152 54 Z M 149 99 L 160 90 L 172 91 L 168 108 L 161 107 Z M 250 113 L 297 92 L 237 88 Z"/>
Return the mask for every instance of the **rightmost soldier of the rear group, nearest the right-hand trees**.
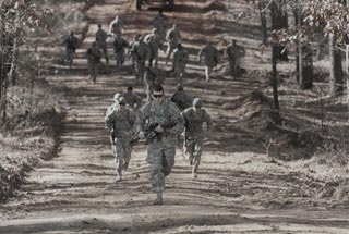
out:
<path id="1" fill-rule="evenodd" d="M 232 39 L 231 44 L 227 46 L 225 54 L 229 59 L 230 74 L 233 78 L 237 78 L 239 76 L 241 57 L 245 54 L 244 48 L 237 45 L 237 40 Z"/>

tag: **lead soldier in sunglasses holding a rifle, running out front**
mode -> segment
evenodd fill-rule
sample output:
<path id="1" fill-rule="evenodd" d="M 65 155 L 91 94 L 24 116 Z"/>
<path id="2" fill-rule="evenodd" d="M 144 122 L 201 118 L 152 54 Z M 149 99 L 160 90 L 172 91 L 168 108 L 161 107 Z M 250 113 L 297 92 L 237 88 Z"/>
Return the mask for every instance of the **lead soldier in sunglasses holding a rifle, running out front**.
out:
<path id="1" fill-rule="evenodd" d="M 177 135 L 183 132 L 184 121 L 177 106 L 164 97 L 164 88 L 157 85 L 153 90 L 153 100 L 141 108 L 135 123 L 139 137 L 145 137 L 148 132 L 145 123 L 153 126 L 147 135 L 147 158 L 151 164 L 151 181 L 153 192 L 157 194 L 154 205 L 163 205 L 165 177 L 174 165 Z M 156 126 L 156 127 L 154 127 Z"/>

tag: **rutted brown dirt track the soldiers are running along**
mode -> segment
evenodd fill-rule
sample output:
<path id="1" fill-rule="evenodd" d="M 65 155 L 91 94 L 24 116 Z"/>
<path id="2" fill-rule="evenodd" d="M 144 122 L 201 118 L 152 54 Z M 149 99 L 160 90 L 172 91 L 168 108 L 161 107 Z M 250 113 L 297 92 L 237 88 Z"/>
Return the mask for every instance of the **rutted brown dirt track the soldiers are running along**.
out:
<path id="1" fill-rule="evenodd" d="M 178 0 L 176 13 L 166 13 L 181 30 L 183 45 L 191 52 L 185 90 L 206 100 L 216 132 L 207 139 L 198 178 L 191 178 L 188 162 L 178 150 L 172 174 L 167 178 L 164 206 L 153 206 L 145 146 L 135 147 L 122 183 L 115 182 L 104 114 L 116 91 L 142 85 L 124 71 L 108 67 L 97 79 L 88 81 L 85 50 L 94 40 L 97 24 L 120 15 L 127 24 L 127 38 L 151 32 L 156 11 L 136 12 L 132 0 L 106 0 L 87 12 L 91 26 L 77 50 L 73 71 L 59 70 L 48 77 L 51 85 L 67 90 L 68 114 L 57 158 L 41 162 L 28 176 L 19 195 L 1 208 L 0 233 L 349 233 L 346 209 L 332 210 L 325 199 L 315 199 L 316 184 L 287 165 L 274 163 L 264 155 L 253 132 L 238 130 L 221 104 L 254 90 L 260 83 L 214 75 L 210 83 L 194 56 L 209 37 L 220 47 L 224 39 L 244 39 L 248 49 L 244 66 L 254 70 L 261 40 L 257 29 L 244 22 L 224 22 L 237 9 L 246 8 L 230 0 Z M 232 12 L 229 12 L 232 11 Z M 230 17 L 229 17 L 230 19 Z M 111 44 L 109 45 L 109 48 Z M 109 56 L 112 51 L 109 51 Z M 160 66 L 165 66 L 161 54 Z M 265 58 L 260 58 L 263 65 Z M 267 63 L 267 62 L 265 62 Z M 111 61 L 111 65 L 115 61 Z M 165 89 L 176 89 L 172 75 Z M 226 128 L 225 128 L 226 127 Z M 316 208 L 317 206 L 317 208 Z"/>

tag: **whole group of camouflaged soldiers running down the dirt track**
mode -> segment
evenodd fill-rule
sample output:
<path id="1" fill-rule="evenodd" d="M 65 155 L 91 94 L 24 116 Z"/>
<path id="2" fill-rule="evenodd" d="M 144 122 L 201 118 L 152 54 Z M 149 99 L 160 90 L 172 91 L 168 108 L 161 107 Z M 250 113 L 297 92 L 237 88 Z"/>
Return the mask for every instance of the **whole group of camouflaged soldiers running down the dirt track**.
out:
<path id="1" fill-rule="evenodd" d="M 116 65 L 120 70 L 125 60 L 125 48 L 130 48 L 132 72 L 136 81 L 145 84 L 146 100 L 142 106 L 142 99 L 133 93 L 132 86 L 127 91 L 117 93 L 105 116 L 106 128 L 111 134 L 112 152 L 116 157 L 117 181 L 122 181 L 122 172 L 128 169 L 131 160 L 133 144 L 139 139 L 145 139 L 147 145 L 146 161 L 151 165 L 151 182 L 153 192 L 157 194 L 155 204 L 163 204 L 165 177 L 170 174 L 174 165 L 176 146 L 183 144 L 184 156 L 192 167 L 192 176 L 197 177 L 201 162 L 203 143 L 206 133 L 213 128 L 210 115 L 203 109 L 200 98 L 191 98 L 183 87 L 183 75 L 189 61 L 189 52 L 181 44 L 181 33 L 173 24 L 169 27 L 168 17 L 159 11 L 153 22 L 154 29 L 147 35 L 135 35 L 128 44 L 124 34 L 123 22 L 116 16 L 110 23 L 109 32 L 105 32 L 98 25 L 96 41 L 87 49 L 89 78 L 96 83 L 98 65 L 104 57 L 109 63 L 107 38 L 112 36 Z M 67 61 L 71 67 L 77 39 L 71 33 L 64 41 L 67 44 Z M 172 57 L 177 91 L 170 97 L 165 97 L 163 84 L 165 81 L 164 70 L 158 67 L 158 52 L 164 50 L 167 42 L 166 64 Z M 164 50 L 165 51 L 165 50 Z M 239 75 L 240 57 L 244 56 L 244 49 L 232 40 L 227 46 L 225 53 L 229 59 L 231 75 Z M 204 57 L 205 78 L 210 81 L 210 73 L 218 64 L 219 51 L 212 40 L 198 52 L 201 62 Z M 203 126 L 206 123 L 207 130 Z M 181 145 L 181 144 L 180 144 Z"/>

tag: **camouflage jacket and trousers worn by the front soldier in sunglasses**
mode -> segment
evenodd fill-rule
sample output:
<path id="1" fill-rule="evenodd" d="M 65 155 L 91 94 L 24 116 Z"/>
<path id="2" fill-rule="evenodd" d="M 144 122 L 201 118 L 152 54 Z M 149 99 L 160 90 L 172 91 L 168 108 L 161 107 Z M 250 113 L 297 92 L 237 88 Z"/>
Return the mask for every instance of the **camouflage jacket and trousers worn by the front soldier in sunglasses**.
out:
<path id="1" fill-rule="evenodd" d="M 161 139 L 154 139 L 147 147 L 146 161 L 151 164 L 152 188 L 155 193 L 165 189 L 165 176 L 169 175 L 174 165 L 177 135 L 183 132 L 184 121 L 179 109 L 168 99 L 164 99 L 159 107 L 151 101 L 141 108 L 135 123 L 137 132 L 144 131 L 145 123 L 173 122 L 176 125 L 166 130 Z"/>

